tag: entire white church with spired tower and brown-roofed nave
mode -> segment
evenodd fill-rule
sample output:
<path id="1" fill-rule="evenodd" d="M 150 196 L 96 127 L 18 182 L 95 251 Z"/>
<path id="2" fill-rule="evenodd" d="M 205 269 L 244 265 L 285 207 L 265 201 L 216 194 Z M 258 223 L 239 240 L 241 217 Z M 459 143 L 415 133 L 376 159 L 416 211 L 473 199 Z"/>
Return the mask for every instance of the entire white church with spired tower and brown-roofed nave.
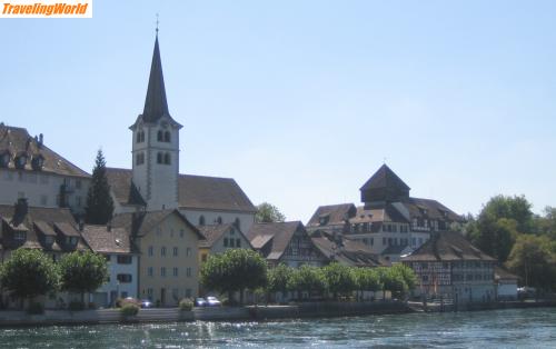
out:
<path id="1" fill-rule="evenodd" d="M 168 109 L 157 34 L 145 108 L 129 128 L 132 168 L 107 169 L 115 215 L 176 209 L 193 226 L 248 231 L 256 208 L 234 179 L 179 173 L 181 128 Z"/>

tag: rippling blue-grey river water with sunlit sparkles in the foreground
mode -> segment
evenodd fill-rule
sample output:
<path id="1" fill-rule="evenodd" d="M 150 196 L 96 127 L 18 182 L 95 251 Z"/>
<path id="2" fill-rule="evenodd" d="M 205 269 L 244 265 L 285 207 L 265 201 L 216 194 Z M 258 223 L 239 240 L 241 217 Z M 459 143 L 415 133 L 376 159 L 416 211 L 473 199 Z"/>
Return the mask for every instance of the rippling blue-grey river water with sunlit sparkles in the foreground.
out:
<path id="1" fill-rule="evenodd" d="M 556 348 L 556 308 L 0 330 L 0 348 Z"/>

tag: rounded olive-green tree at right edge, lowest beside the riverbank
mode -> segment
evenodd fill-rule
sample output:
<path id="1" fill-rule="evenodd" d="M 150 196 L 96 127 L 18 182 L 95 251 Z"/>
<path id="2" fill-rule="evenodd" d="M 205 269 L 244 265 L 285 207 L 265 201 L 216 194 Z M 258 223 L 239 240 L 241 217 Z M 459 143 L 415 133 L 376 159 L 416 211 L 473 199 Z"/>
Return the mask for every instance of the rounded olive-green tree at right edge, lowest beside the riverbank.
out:
<path id="1" fill-rule="evenodd" d="M 547 237 L 523 235 L 517 238 L 506 267 L 518 275 L 525 286 L 542 289 L 556 287 L 556 258 Z"/>

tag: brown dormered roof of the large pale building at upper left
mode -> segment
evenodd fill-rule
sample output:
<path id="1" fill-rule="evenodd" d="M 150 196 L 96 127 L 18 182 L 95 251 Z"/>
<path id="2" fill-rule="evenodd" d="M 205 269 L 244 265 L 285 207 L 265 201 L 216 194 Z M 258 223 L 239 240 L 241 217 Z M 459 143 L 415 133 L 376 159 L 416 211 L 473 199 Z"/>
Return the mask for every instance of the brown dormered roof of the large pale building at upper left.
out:
<path id="1" fill-rule="evenodd" d="M 62 176 L 90 177 L 89 173 L 81 170 L 47 146 L 39 138 L 33 138 L 27 129 L 6 126 L 0 123 L 0 153 L 8 152 L 10 162 L 8 168 L 14 169 L 14 157 L 26 154 L 28 160 L 24 170 L 34 171 L 32 159 L 42 156 L 43 164 L 39 172 L 50 172 Z"/>

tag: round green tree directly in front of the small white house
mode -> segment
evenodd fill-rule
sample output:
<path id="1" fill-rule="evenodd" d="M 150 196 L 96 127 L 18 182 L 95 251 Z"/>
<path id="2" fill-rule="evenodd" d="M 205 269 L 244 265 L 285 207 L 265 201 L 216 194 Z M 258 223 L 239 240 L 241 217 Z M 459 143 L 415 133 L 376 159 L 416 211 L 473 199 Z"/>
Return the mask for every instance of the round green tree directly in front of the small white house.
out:
<path id="1" fill-rule="evenodd" d="M 86 251 L 71 252 L 60 260 L 61 289 L 69 292 L 93 292 L 108 281 L 108 265 L 103 256 Z"/>

